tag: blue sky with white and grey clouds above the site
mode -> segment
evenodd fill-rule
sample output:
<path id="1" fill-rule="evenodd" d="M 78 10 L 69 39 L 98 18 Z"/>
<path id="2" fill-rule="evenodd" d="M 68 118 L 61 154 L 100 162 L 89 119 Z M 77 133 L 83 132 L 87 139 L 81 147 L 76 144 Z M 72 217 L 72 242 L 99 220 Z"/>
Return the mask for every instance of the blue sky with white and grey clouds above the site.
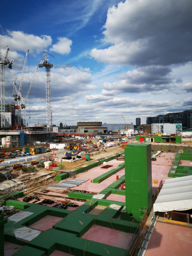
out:
<path id="1" fill-rule="evenodd" d="M 121 116 L 145 123 L 147 116 L 191 109 L 190 0 L 2 0 L 1 9 L 2 52 L 6 39 L 14 58 L 12 70 L 6 68 L 7 102 L 26 49 L 24 98 L 46 49 L 52 64 L 72 66 L 51 70 L 53 124 L 119 123 Z M 29 116 L 30 125 L 46 123 L 44 68 L 27 102 L 28 123 Z"/>

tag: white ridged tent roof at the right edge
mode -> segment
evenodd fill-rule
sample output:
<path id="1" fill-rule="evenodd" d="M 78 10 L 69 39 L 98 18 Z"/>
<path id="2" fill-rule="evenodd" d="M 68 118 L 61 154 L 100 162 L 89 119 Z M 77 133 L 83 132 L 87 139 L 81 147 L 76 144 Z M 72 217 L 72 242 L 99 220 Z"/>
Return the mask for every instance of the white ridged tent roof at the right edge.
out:
<path id="1" fill-rule="evenodd" d="M 192 176 L 165 180 L 153 208 L 154 212 L 192 209 Z"/>

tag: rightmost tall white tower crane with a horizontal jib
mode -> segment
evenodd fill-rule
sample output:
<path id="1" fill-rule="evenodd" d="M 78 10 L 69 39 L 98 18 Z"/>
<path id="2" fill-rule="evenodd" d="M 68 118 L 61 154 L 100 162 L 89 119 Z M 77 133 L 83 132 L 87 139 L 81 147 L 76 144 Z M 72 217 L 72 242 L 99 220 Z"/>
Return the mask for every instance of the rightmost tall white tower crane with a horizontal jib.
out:
<path id="1" fill-rule="evenodd" d="M 71 67 L 70 64 L 67 65 L 53 65 L 49 63 L 46 53 L 50 55 L 49 52 L 43 51 L 44 58 L 41 60 L 38 67 L 45 67 L 46 72 L 46 104 L 47 104 L 47 129 L 51 128 L 52 114 L 51 114 L 51 68 L 52 67 Z M 51 55 L 52 56 L 52 55 Z M 54 56 L 53 56 L 54 57 Z"/>

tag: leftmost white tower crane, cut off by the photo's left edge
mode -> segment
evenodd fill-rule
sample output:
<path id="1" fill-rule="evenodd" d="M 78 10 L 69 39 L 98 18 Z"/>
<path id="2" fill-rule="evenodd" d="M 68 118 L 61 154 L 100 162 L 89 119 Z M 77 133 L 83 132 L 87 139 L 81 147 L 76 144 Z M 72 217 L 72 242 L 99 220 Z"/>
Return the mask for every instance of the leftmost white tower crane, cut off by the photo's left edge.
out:
<path id="1" fill-rule="evenodd" d="M 1 127 L 5 127 L 5 66 L 9 67 L 12 69 L 12 64 L 13 64 L 13 59 L 8 59 L 7 55 L 9 52 L 9 47 L 7 46 L 5 55 L 2 56 L 1 52 L 1 44 L 0 44 L 0 69 L 1 69 L 1 74 L 0 74 L 0 92 L 1 92 Z"/>

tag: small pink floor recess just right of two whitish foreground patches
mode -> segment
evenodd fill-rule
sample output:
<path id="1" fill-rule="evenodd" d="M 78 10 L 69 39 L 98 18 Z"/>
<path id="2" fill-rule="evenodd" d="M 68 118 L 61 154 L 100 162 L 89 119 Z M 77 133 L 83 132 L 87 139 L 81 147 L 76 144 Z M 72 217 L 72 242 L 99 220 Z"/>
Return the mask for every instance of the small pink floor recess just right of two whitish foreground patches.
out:
<path id="1" fill-rule="evenodd" d="M 47 215 L 29 227 L 44 231 L 52 228 L 53 225 L 55 225 L 58 221 L 61 221 L 62 219 L 63 218 Z"/>

